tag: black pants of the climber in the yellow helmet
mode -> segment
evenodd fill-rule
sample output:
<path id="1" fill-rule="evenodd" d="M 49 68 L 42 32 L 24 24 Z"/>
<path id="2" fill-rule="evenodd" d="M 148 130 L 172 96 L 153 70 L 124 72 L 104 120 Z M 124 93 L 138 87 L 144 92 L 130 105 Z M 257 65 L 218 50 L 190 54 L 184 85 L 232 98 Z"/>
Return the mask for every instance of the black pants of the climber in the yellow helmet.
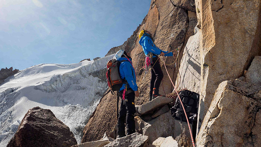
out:
<path id="1" fill-rule="evenodd" d="M 159 93 L 160 83 L 163 79 L 163 73 L 162 73 L 162 70 L 161 70 L 161 67 L 160 67 L 160 59 L 157 60 L 157 57 L 154 57 L 154 58 L 152 58 L 152 60 L 153 60 L 153 64 L 151 64 L 152 69 L 151 69 L 151 83 L 150 83 L 150 98 L 149 98 L 149 101 L 152 100 L 153 88 L 156 88 L 155 94 Z"/>

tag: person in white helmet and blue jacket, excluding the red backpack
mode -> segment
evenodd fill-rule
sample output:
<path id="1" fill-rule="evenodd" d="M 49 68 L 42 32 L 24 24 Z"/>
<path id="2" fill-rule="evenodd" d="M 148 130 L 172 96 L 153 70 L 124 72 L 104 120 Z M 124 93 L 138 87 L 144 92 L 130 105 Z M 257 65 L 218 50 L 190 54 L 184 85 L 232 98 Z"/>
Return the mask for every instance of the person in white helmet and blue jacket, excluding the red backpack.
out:
<path id="1" fill-rule="evenodd" d="M 121 100 L 121 106 L 118 117 L 118 134 L 119 138 L 125 135 L 124 120 L 126 117 L 127 135 L 135 133 L 134 114 L 136 112 L 134 99 L 139 97 L 138 86 L 136 84 L 136 74 L 131 61 L 131 55 L 124 50 L 119 50 L 116 59 L 121 62 L 119 66 L 120 78 L 126 80 L 119 90 L 119 96 L 125 98 Z M 125 89 L 125 90 L 124 90 Z M 125 96 L 124 96 L 125 95 Z"/>

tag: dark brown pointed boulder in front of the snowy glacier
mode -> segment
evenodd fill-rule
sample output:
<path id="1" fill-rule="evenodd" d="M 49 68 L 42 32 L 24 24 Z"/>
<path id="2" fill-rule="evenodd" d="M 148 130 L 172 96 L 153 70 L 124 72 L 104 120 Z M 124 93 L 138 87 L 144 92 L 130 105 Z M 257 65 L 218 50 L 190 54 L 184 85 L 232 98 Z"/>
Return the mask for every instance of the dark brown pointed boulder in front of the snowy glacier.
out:
<path id="1" fill-rule="evenodd" d="M 49 109 L 28 110 L 7 147 L 70 147 L 77 144 L 70 128 Z"/>

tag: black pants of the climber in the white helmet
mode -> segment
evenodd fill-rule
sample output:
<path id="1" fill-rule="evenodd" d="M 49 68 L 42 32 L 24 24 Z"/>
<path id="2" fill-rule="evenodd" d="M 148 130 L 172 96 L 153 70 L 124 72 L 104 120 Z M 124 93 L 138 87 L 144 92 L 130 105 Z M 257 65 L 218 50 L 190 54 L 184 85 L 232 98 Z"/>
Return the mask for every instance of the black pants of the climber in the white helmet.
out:
<path id="1" fill-rule="evenodd" d="M 123 92 L 123 90 L 122 90 Z M 119 92 L 120 97 L 122 98 L 122 92 Z M 126 117 L 126 128 L 127 128 L 127 135 L 135 133 L 135 121 L 134 121 L 134 114 L 136 112 L 134 99 L 135 93 L 131 92 L 125 95 L 125 98 L 128 101 L 121 100 L 121 107 L 119 110 L 119 117 L 118 117 L 118 134 L 119 136 L 125 135 L 125 117 Z"/>

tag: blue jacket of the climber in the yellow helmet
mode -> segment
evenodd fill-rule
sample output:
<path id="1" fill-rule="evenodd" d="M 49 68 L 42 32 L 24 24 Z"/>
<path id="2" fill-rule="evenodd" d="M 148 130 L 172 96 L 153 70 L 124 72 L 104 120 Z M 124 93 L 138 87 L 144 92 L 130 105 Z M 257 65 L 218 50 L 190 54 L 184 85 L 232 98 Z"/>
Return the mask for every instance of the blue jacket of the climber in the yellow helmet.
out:
<path id="1" fill-rule="evenodd" d="M 167 53 L 167 51 L 162 51 L 161 49 L 159 49 L 151 40 L 151 37 L 148 37 L 146 35 L 143 35 L 140 40 L 139 40 L 139 44 L 142 46 L 142 49 L 145 53 L 145 55 L 148 55 L 149 52 L 154 53 L 156 55 L 160 55 L 161 52 L 163 53 Z M 173 53 L 167 53 L 164 56 L 173 56 Z M 155 55 L 153 55 L 153 57 L 156 57 Z"/>

